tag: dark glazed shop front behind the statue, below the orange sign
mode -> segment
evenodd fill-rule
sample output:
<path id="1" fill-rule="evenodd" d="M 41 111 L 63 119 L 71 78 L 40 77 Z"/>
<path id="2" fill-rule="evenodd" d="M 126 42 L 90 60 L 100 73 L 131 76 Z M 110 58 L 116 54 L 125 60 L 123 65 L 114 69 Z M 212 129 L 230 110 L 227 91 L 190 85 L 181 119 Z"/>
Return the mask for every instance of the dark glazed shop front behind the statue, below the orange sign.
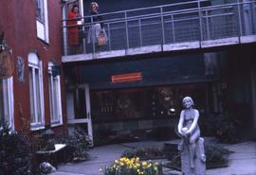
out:
<path id="1" fill-rule="evenodd" d="M 92 124 L 98 142 L 175 138 L 184 96 L 193 96 L 204 115 L 211 101 L 208 83 L 91 92 Z"/>

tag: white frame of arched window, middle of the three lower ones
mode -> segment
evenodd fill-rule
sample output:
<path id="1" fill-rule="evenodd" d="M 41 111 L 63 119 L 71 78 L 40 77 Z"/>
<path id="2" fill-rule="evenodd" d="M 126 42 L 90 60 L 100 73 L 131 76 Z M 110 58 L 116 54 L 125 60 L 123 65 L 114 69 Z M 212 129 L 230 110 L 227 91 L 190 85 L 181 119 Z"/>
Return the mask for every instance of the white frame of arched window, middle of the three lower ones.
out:
<path id="1" fill-rule="evenodd" d="M 31 105 L 30 103 L 30 108 L 33 108 L 35 114 L 34 114 L 34 120 L 35 122 L 31 122 L 30 121 L 30 130 L 31 131 L 35 131 L 35 130 L 41 130 L 41 129 L 45 129 L 45 106 L 44 106 L 44 86 L 43 86 L 43 65 L 42 65 L 42 61 L 39 60 L 37 54 L 35 53 L 29 53 L 28 54 L 28 67 L 32 68 L 32 87 L 33 87 L 33 105 Z M 35 70 L 38 70 L 38 81 L 39 81 L 39 96 L 37 96 L 36 94 L 36 83 L 35 83 Z M 28 70 L 28 74 L 29 70 Z M 30 81 L 30 77 L 29 77 L 29 81 Z M 30 82 L 29 82 L 30 84 Z M 31 89 L 30 89 L 30 85 L 29 85 L 29 93 L 30 93 Z M 30 96 L 31 97 L 31 96 Z M 38 97 L 40 98 L 38 100 Z M 37 104 L 40 101 L 40 104 Z M 41 108 L 41 121 L 38 118 L 38 113 L 37 113 L 37 106 L 40 105 Z M 31 114 L 30 114 L 31 115 Z M 30 116 L 31 117 L 31 116 Z"/>

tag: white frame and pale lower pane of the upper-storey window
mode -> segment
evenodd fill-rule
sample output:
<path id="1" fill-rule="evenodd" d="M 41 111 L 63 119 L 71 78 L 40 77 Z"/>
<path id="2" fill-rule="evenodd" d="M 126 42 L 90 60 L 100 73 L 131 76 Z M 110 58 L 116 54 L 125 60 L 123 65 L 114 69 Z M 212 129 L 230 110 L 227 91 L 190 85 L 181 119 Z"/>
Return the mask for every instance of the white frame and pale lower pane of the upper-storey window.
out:
<path id="1" fill-rule="evenodd" d="M 47 0 L 36 0 L 41 1 L 44 6 L 44 20 L 36 19 L 37 37 L 47 44 L 49 44 L 49 26 L 48 26 L 48 9 Z"/>

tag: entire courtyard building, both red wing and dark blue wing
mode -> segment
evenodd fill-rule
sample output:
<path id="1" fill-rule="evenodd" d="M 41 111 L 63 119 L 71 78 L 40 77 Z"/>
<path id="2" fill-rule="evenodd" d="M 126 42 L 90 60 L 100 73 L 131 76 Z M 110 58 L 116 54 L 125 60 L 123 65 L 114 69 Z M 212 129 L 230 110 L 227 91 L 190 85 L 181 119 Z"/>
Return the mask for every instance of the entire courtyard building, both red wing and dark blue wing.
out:
<path id="1" fill-rule="evenodd" d="M 192 96 L 202 122 L 230 116 L 255 132 L 255 1 L 99 0 L 101 46 L 87 40 L 90 3 L 1 1 L 13 76 L 1 79 L 0 114 L 13 130 L 173 138 L 181 99 Z"/>

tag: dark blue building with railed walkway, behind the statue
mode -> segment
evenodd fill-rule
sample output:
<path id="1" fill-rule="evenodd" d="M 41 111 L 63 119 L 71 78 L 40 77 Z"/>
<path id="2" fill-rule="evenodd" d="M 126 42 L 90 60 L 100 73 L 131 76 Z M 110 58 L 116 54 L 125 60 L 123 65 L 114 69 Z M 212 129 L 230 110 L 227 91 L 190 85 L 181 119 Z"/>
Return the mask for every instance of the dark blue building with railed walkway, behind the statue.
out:
<path id="1" fill-rule="evenodd" d="M 75 54 L 64 22 L 69 127 L 96 140 L 172 137 L 181 100 L 192 96 L 202 122 L 229 117 L 255 131 L 255 1 L 99 0 L 108 37 L 100 48 L 86 37 L 97 23 L 91 2 L 73 3 L 82 19 Z"/>

